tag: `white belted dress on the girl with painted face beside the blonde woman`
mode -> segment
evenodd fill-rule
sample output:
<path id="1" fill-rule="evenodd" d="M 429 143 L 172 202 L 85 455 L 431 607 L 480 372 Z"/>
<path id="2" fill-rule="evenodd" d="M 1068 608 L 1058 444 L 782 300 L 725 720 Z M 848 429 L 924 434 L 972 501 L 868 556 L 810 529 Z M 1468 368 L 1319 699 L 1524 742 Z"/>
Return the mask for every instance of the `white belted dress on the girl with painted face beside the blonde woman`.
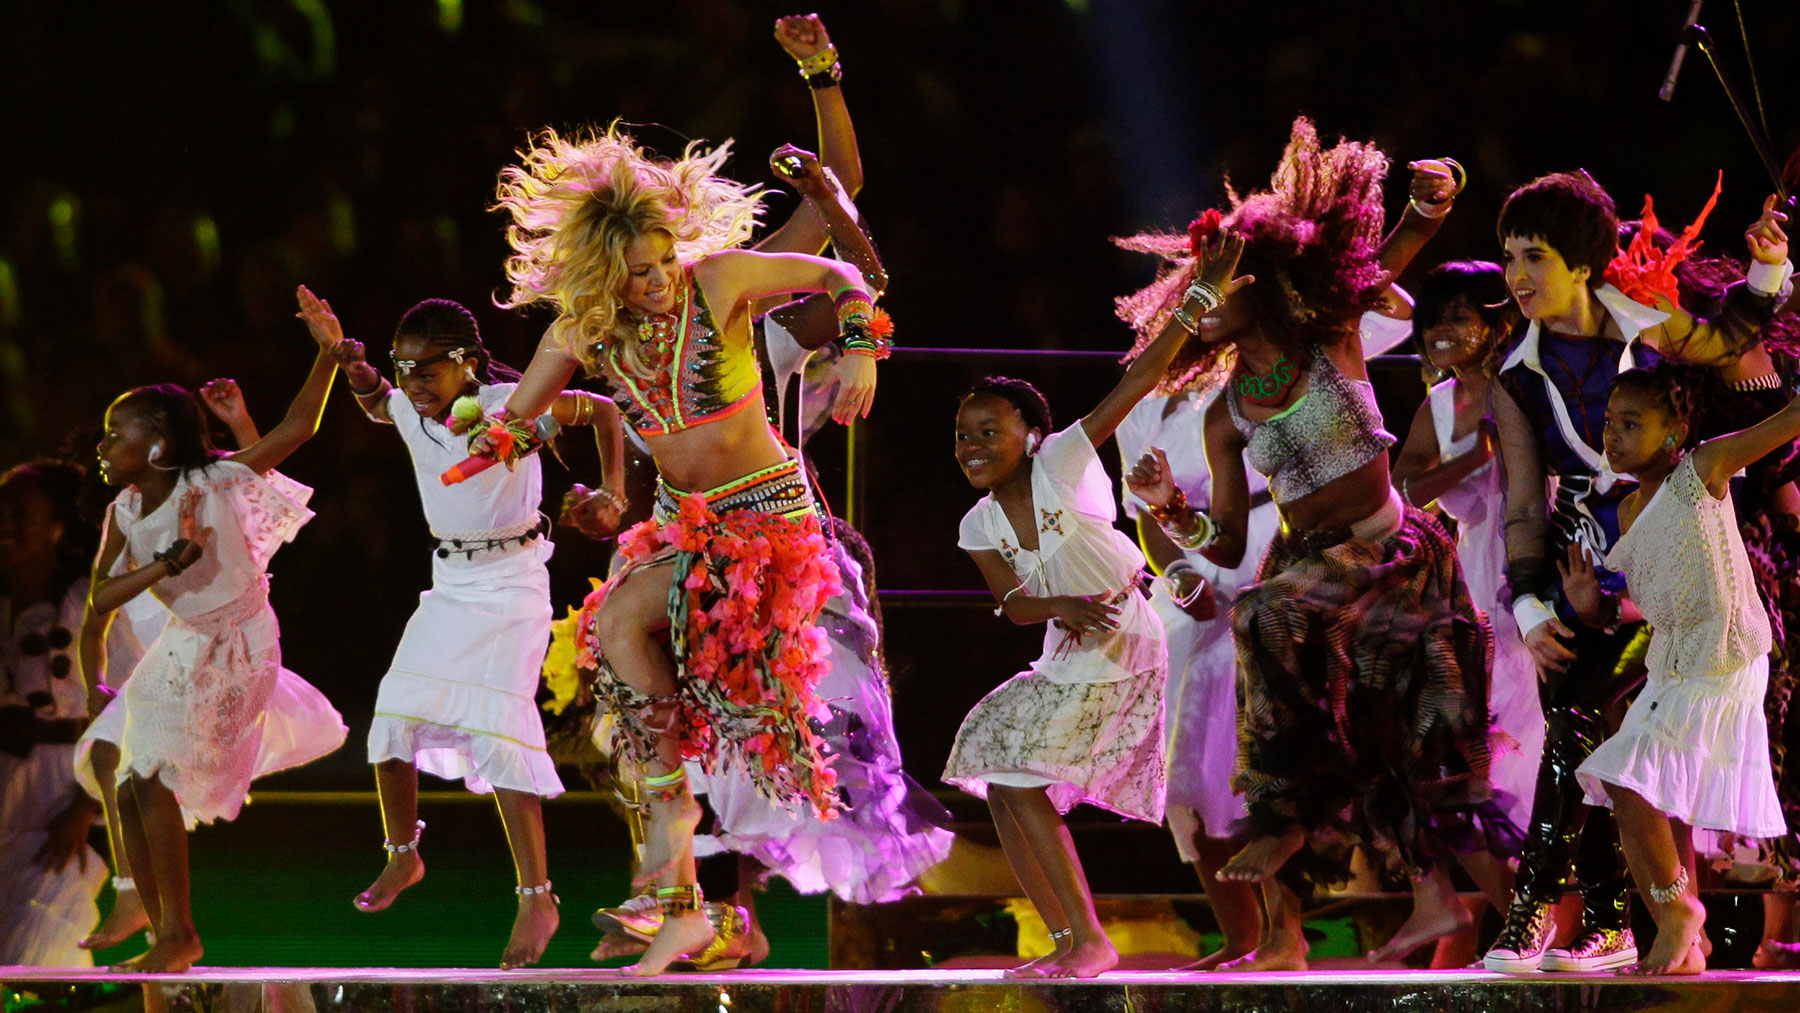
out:
<path id="1" fill-rule="evenodd" d="M 517 383 L 477 392 L 488 414 Z M 470 792 L 508 788 L 560 795 L 556 763 L 544 747 L 536 691 L 551 642 L 554 545 L 538 534 L 544 466 L 536 455 L 495 466 L 455 486 L 439 480 L 468 457 L 468 439 L 419 417 L 398 389 L 389 417 L 412 453 L 425 520 L 443 551 L 432 587 L 407 621 L 382 677 L 369 725 L 369 763 L 405 759 Z M 488 547 L 490 542 L 502 542 Z M 455 551 L 455 543 L 473 551 Z"/>

